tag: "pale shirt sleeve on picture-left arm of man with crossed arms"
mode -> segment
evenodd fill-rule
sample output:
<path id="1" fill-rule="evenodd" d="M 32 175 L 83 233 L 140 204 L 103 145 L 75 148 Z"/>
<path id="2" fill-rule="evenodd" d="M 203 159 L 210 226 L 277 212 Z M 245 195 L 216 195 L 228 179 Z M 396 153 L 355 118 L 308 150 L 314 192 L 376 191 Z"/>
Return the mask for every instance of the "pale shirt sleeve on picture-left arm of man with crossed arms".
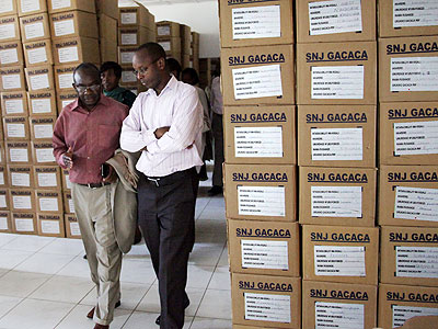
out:
<path id="1" fill-rule="evenodd" d="M 120 134 L 120 147 L 129 152 L 136 152 L 145 146 L 155 141 L 154 131 L 141 129 L 142 111 L 141 98 L 138 97 L 130 109 L 129 115 L 124 120 Z"/>

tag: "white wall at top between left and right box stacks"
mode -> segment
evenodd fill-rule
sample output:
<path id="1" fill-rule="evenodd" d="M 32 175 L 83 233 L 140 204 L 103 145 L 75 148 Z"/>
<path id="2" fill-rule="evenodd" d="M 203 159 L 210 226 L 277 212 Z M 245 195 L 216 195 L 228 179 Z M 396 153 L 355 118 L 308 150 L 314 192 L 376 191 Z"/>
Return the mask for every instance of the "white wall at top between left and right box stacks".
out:
<path id="1" fill-rule="evenodd" d="M 155 15 L 155 22 L 172 21 L 185 24 L 200 34 L 199 57 L 219 57 L 218 1 L 154 4 L 138 0 Z"/>

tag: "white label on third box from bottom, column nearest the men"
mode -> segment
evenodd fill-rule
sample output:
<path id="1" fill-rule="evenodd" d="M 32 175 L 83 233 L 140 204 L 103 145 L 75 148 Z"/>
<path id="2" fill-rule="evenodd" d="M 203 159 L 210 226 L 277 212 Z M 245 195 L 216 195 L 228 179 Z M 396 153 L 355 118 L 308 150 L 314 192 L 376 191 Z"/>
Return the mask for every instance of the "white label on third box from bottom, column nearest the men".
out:
<path id="1" fill-rule="evenodd" d="M 238 186 L 239 215 L 286 216 L 285 186 Z"/>

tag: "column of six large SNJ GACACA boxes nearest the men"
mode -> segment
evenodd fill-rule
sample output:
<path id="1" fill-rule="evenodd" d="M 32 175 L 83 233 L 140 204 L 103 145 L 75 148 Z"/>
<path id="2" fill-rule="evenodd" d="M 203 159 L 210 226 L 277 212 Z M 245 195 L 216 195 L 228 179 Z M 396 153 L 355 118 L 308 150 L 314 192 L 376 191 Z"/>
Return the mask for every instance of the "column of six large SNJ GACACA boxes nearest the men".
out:
<path id="1" fill-rule="evenodd" d="M 219 5 L 233 326 L 300 328 L 292 1 Z"/>

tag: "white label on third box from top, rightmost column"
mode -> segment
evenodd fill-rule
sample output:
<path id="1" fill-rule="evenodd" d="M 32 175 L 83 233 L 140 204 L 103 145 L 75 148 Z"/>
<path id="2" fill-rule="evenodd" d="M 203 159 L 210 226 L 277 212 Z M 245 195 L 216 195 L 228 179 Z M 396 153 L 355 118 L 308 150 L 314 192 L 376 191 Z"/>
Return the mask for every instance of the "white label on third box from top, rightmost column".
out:
<path id="1" fill-rule="evenodd" d="M 394 123 L 394 155 L 438 154 L 438 121 Z"/>

